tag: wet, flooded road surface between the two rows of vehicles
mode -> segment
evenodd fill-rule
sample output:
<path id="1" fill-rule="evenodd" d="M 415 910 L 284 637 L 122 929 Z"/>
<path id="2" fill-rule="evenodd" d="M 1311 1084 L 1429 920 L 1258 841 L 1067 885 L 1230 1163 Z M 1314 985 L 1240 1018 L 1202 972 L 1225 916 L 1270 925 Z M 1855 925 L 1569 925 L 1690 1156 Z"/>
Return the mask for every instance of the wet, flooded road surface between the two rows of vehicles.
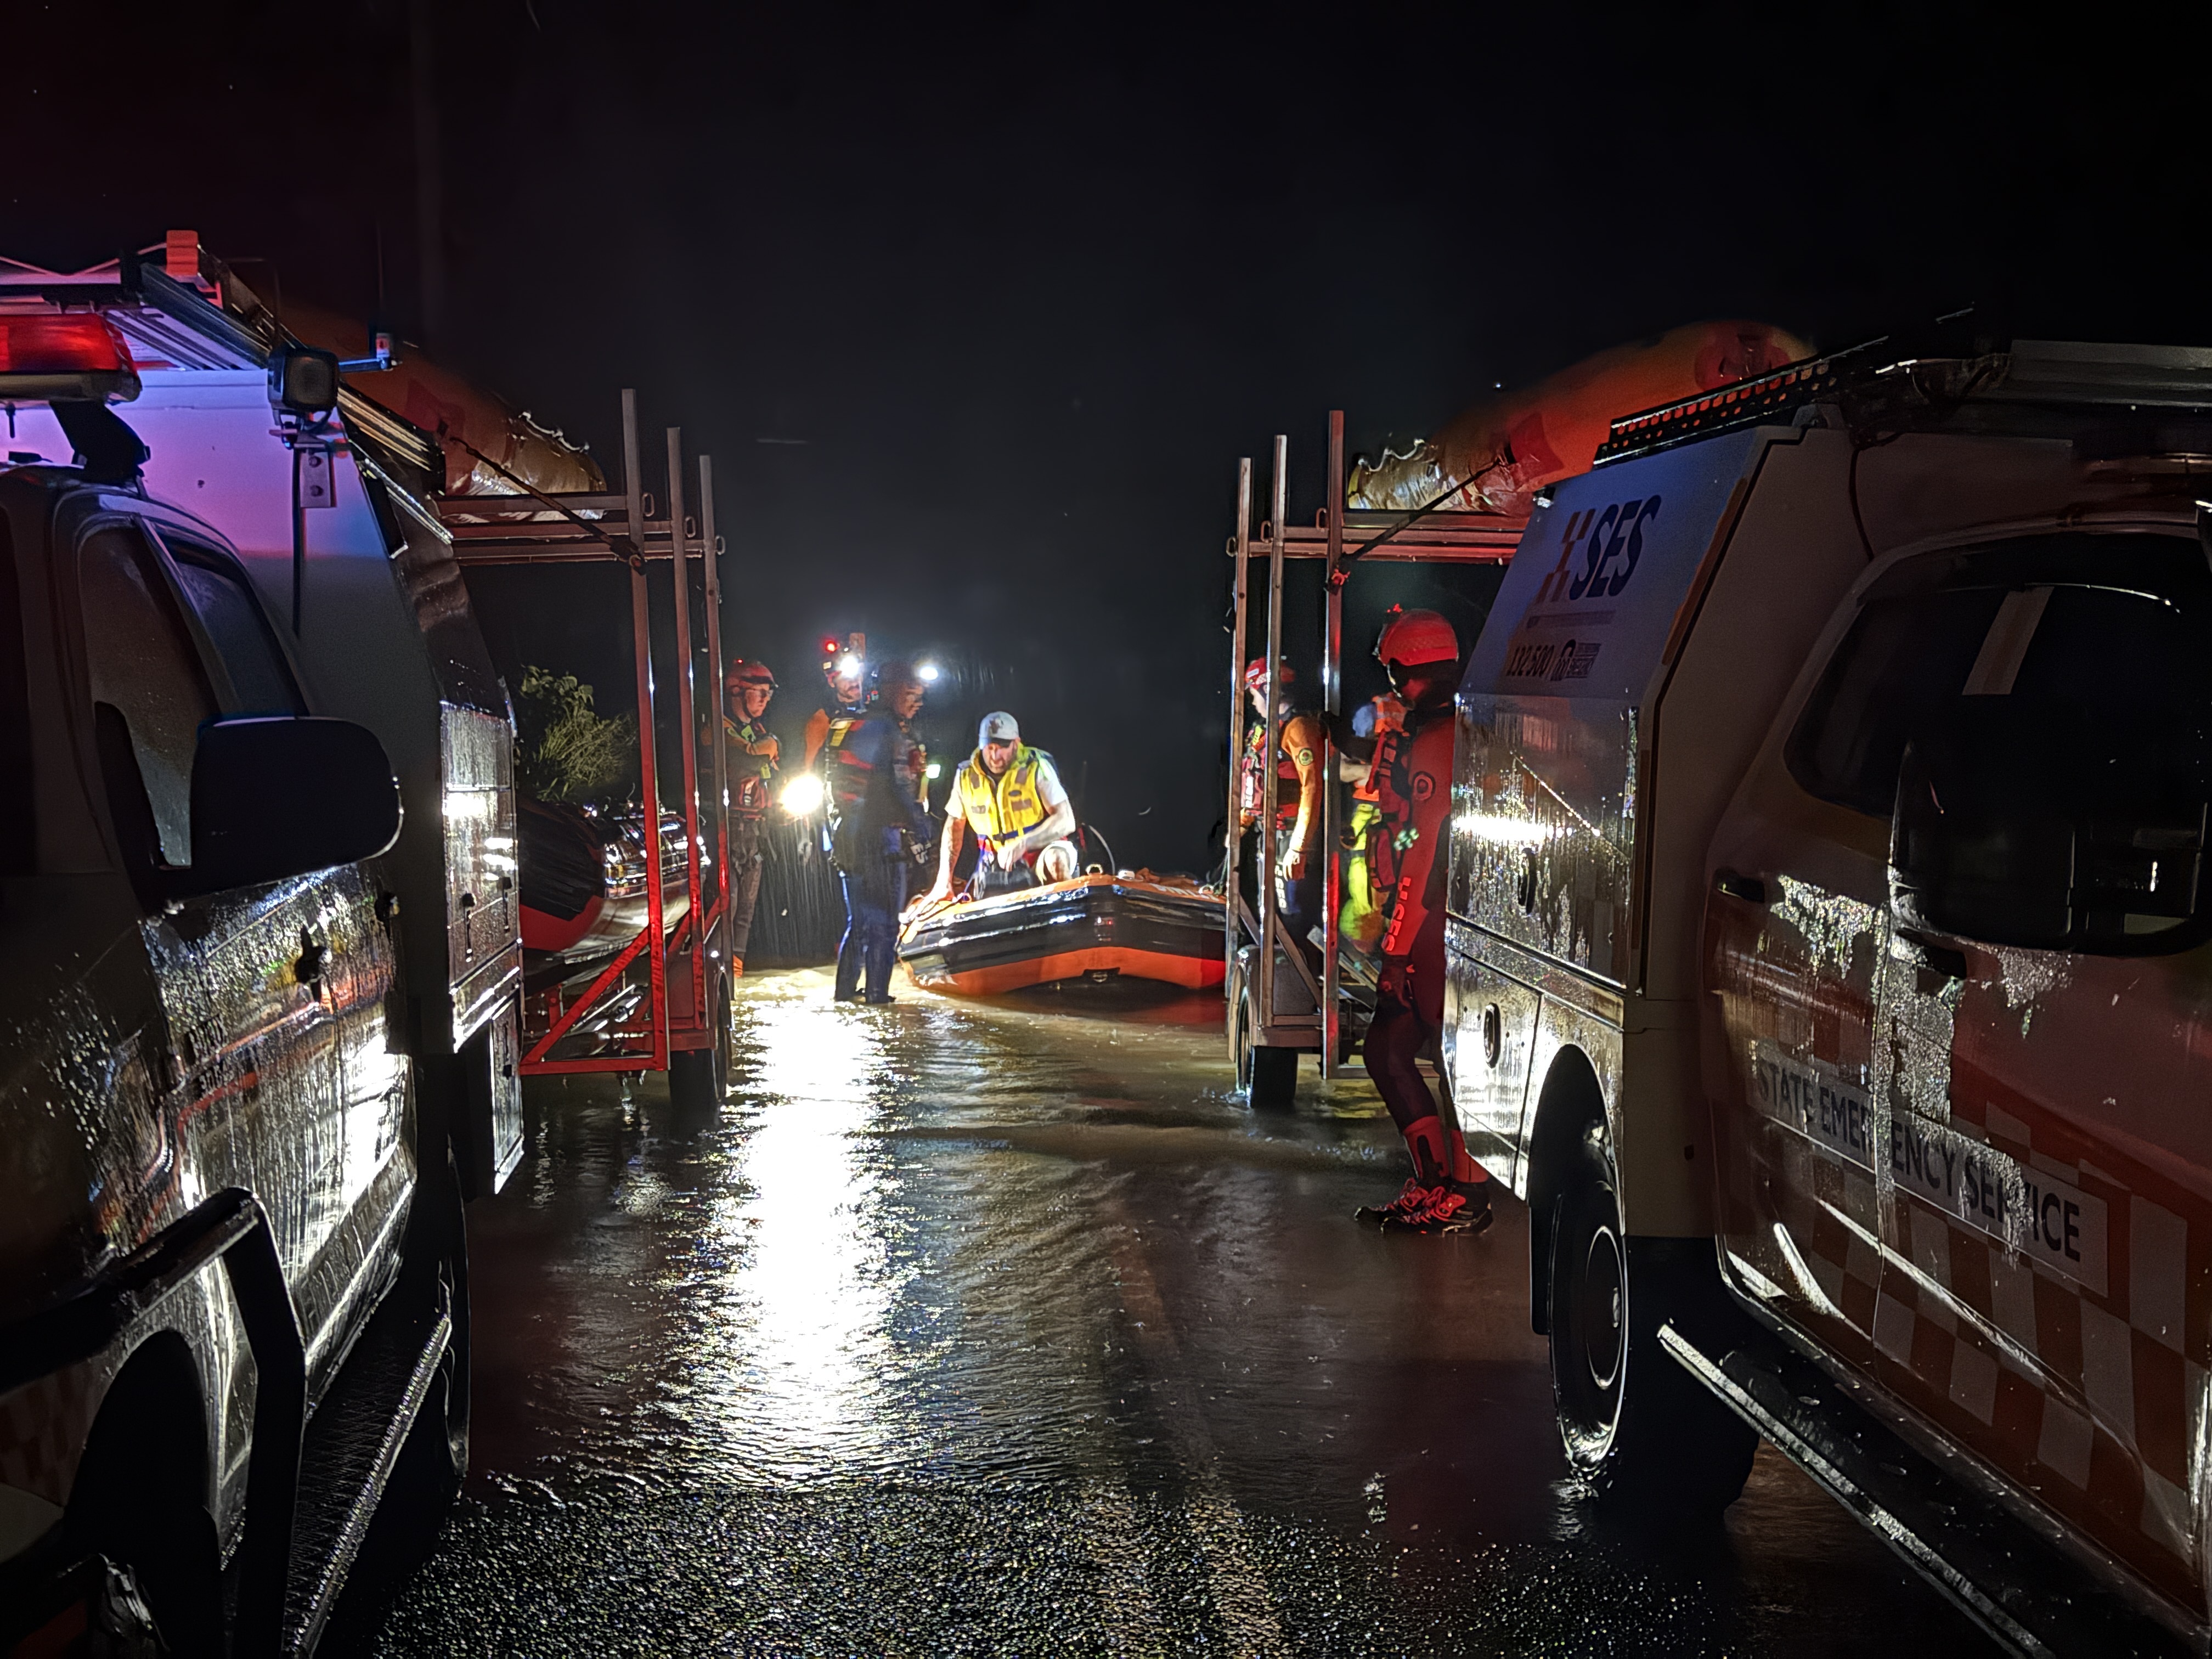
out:
<path id="1" fill-rule="evenodd" d="M 1770 1449 L 1721 1526 L 1595 1515 L 1520 1206 L 1358 1230 L 1380 1104 L 1254 1117 L 1212 998 L 801 971 L 739 1024 L 719 1115 L 529 1091 L 469 1493 L 341 1650 L 1986 1650 Z"/>

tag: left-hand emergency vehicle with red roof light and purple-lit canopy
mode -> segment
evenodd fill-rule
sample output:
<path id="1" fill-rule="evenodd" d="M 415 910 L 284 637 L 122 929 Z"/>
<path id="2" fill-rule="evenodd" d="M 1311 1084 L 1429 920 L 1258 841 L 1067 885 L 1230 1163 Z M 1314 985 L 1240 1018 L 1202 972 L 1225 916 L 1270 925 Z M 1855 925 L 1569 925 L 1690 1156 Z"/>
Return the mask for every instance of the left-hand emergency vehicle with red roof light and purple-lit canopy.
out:
<path id="1" fill-rule="evenodd" d="M 184 243 L 0 270 L 0 1652 L 312 1650 L 465 1467 L 522 1152 L 427 440 Z"/>

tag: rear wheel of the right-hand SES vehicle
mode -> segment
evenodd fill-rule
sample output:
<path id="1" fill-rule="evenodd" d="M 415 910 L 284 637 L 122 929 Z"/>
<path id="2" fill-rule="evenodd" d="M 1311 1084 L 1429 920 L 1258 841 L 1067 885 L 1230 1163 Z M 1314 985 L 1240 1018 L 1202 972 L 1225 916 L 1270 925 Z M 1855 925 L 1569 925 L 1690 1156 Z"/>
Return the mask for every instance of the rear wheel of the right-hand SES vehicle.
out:
<path id="1" fill-rule="evenodd" d="M 1584 1130 L 1551 1223 L 1551 1394 L 1566 1460 L 1601 1500 L 1717 1515 L 1759 1436 L 1659 1347 L 1668 1318 L 1723 1294 L 1710 1252 L 1630 1250 L 1604 1124 Z"/>

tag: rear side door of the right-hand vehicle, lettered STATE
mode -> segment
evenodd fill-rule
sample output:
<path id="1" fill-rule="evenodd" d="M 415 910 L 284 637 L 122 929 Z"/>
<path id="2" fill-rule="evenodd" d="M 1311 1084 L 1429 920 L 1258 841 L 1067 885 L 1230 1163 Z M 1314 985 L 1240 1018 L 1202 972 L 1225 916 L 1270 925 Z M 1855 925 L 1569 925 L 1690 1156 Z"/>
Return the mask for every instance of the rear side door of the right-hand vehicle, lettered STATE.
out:
<path id="1" fill-rule="evenodd" d="M 1900 1314 L 1882 1248 L 1885 1091 L 1940 1093 L 1929 1044 L 1949 1044 L 1951 993 L 1889 958 L 1898 754 L 1913 712 L 1955 695 L 2000 604 L 1893 586 L 1829 622 L 1823 672 L 1785 706 L 1714 834 L 1703 929 L 1730 1272 L 1854 1365 L 1896 1340 Z"/>

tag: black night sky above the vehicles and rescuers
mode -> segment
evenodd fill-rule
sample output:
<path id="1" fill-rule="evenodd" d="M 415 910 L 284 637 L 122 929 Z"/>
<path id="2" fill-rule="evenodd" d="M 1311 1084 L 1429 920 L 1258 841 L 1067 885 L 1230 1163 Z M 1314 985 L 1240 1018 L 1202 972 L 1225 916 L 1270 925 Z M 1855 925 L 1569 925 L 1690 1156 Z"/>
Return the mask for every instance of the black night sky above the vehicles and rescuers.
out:
<path id="1" fill-rule="evenodd" d="M 1332 405 L 1411 438 L 1699 316 L 2212 341 L 2168 13 L 1792 11 L 440 0 L 425 321 L 407 0 L 15 0 L 0 252 L 192 226 L 369 314 L 380 226 L 403 334 L 604 460 L 622 385 L 714 453 L 730 637 L 790 712 L 823 633 L 938 653 L 947 712 L 1013 708 L 1126 863 L 1188 867 L 1270 434 L 1312 513 Z M 560 582 L 502 648 L 617 692 Z"/>

